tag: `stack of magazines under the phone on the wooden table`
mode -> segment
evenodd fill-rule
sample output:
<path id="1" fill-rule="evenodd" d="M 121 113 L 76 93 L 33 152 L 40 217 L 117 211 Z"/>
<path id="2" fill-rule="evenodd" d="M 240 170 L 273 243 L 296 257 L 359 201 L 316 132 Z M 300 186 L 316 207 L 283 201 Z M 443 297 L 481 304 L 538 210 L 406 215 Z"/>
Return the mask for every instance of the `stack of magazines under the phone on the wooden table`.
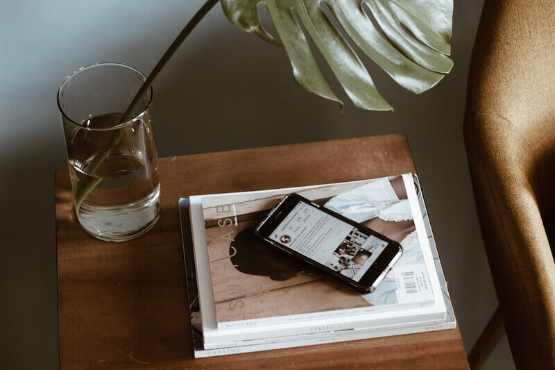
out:
<path id="1" fill-rule="evenodd" d="M 357 292 L 255 236 L 293 192 L 400 242 L 402 257 L 374 292 Z M 416 175 L 190 196 L 179 205 L 196 358 L 456 326 Z M 356 274 L 373 252 L 362 237 L 345 241 L 346 258 L 338 246 L 330 266 Z"/>

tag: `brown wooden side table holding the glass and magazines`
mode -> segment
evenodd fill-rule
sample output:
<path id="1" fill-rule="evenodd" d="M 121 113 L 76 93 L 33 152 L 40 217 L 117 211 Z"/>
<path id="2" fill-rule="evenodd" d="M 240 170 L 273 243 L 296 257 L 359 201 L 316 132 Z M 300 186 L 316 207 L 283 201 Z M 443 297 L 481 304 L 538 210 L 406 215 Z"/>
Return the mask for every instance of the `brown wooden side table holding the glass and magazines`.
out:
<path id="1" fill-rule="evenodd" d="M 468 369 L 459 329 L 195 360 L 180 196 L 361 180 L 415 171 L 404 135 L 162 158 L 160 221 L 112 244 L 80 228 L 67 169 L 56 171 L 60 367 Z"/>

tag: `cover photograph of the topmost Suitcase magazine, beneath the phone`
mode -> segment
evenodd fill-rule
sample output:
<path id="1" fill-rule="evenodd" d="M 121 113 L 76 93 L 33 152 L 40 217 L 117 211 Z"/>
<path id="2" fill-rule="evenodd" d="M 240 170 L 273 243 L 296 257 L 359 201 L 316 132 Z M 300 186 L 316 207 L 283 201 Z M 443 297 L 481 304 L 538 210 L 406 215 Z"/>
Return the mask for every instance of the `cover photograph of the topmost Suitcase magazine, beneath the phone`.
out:
<path id="1" fill-rule="evenodd" d="M 417 289 L 429 287 L 429 276 L 401 176 L 322 185 L 297 193 L 399 242 L 402 257 L 374 292 L 361 294 L 255 235 L 256 226 L 286 192 L 204 196 L 218 322 L 433 299 L 431 289 L 429 294 Z M 325 265 L 352 278 L 366 262 L 375 260 L 373 253 L 379 253 L 383 243 L 353 227 L 326 257 Z"/>

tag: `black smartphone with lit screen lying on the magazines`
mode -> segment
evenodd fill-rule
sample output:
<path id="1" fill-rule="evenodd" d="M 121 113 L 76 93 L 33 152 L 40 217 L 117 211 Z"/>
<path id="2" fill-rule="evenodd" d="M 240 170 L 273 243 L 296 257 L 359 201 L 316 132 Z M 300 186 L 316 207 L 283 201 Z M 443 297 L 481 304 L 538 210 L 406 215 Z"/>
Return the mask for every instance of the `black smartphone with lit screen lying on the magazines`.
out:
<path id="1" fill-rule="evenodd" d="M 255 233 L 361 292 L 373 292 L 402 255 L 398 242 L 298 194 L 285 196 Z"/>

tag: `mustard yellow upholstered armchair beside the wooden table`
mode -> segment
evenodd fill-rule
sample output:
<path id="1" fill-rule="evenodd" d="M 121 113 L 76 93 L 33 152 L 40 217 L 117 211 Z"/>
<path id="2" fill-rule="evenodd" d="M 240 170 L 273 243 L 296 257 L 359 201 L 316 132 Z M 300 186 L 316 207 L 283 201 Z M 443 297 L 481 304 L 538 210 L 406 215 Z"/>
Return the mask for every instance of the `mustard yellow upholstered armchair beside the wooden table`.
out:
<path id="1" fill-rule="evenodd" d="M 555 368 L 555 1 L 486 0 L 464 135 L 513 359 Z"/>

